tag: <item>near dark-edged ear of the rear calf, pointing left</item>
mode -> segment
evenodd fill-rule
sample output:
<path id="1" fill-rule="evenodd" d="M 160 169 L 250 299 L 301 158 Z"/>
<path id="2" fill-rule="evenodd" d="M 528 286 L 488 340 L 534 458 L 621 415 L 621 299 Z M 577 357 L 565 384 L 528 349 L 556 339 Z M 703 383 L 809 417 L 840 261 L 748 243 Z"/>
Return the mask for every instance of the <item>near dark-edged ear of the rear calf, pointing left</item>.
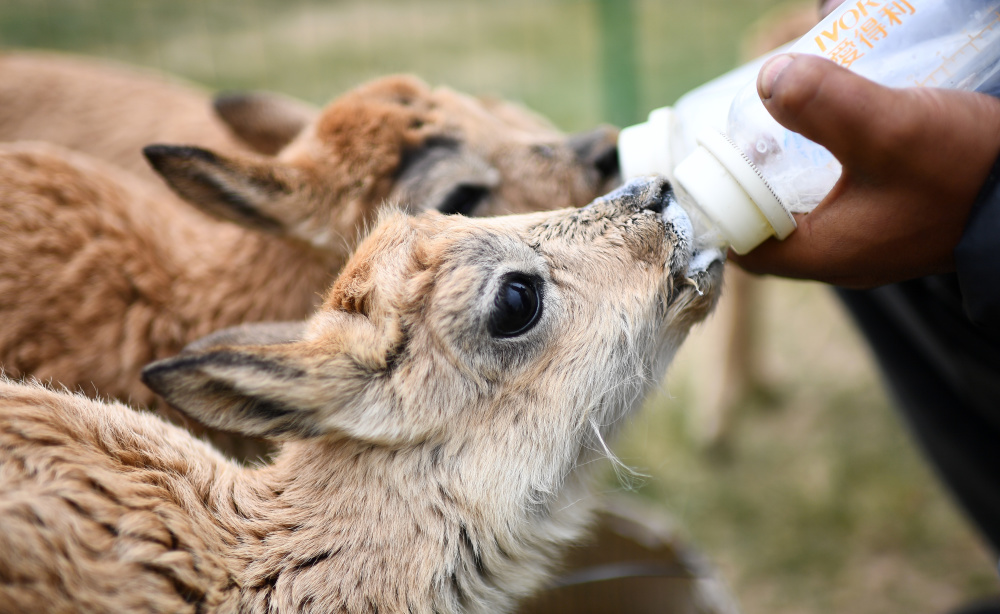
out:
<path id="1" fill-rule="evenodd" d="M 142 153 L 181 198 L 214 217 L 273 234 L 305 217 L 289 198 L 298 187 L 295 171 L 275 160 L 180 145 L 150 145 Z"/>

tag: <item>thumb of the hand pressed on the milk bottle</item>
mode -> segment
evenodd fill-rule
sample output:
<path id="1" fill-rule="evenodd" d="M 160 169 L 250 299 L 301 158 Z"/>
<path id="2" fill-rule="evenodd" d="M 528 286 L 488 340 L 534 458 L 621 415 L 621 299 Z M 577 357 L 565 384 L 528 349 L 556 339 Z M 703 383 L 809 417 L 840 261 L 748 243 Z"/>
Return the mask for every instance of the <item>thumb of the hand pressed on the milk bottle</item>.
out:
<path id="1" fill-rule="evenodd" d="M 886 135 L 901 118 L 897 90 L 869 81 L 812 55 L 770 59 L 757 93 L 779 124 L 830 150 L 845 165 L 872 151 L 870 139 Z"/>

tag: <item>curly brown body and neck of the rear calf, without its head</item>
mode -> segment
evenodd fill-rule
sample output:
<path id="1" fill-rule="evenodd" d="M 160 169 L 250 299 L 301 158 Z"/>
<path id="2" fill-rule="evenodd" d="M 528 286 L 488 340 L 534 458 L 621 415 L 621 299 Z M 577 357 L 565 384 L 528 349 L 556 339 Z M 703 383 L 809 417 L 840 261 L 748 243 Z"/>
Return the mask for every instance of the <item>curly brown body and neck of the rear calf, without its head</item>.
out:
<path id="1" fill-rule="evenodd" d="M 142 367 L 246 320 L 301 318 L 322 254 L 231 224 L 177 224 L 139 180 L 46 143 L 0 145 L 0 364 L 149 403 Z"/>

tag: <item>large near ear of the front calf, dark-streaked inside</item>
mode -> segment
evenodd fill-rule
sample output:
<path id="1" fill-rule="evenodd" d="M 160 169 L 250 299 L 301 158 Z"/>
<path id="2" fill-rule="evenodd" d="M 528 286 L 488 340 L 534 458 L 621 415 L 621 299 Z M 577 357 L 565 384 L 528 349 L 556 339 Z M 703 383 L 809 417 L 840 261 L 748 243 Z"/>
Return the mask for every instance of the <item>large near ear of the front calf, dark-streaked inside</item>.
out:
<path id="1" fill-rule="evenodd" d="M 324 311 L 304 340 L 186 352 L 148 365 L 142 381 L 198 422 L 251 437 L 412 441 L 426 427 L 390 392 L 390 355 L 367 318 Z"/>

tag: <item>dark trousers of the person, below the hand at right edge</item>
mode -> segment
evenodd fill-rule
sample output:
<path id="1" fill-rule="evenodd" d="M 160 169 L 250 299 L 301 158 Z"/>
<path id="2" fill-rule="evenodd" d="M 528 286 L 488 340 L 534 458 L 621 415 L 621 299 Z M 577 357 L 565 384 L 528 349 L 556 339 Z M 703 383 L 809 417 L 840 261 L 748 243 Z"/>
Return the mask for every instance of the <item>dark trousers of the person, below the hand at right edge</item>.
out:
<path id="1" fill-rule="evenodd" d="M 935 471 L 1000 552 L 1000 339 L 964 317 L 948 276 L 837 293 Z"/>

